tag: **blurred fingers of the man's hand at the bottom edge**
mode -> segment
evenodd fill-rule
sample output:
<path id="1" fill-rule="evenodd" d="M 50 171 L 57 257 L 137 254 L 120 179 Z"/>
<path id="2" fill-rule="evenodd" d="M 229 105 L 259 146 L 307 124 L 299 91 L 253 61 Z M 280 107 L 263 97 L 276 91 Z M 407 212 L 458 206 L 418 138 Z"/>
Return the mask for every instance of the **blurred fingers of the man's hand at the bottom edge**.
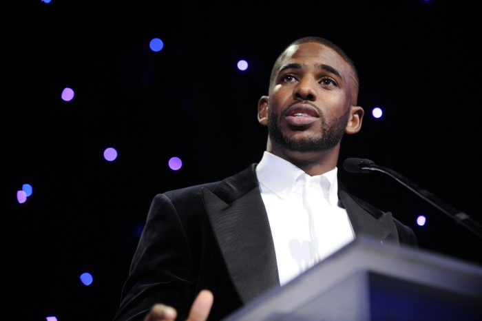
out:
<path id="1" fill-rule="evenodd" d="M 186 321 L 206 321 L 212 306 L 213 293 L 209 290 L 200 291 L 193 305 L 191 305 Z M 151 307 L 151 311 L 145 316 L 144 321 L 174 321 L 177 316 L 176 309 L 158 303 Z"/>

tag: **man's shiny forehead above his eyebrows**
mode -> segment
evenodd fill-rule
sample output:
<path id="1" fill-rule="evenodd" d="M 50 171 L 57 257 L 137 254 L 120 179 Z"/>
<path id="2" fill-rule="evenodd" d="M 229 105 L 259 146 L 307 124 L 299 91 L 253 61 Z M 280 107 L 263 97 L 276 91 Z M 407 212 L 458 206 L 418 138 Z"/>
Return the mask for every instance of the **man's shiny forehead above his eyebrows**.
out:
<path id="1" fill-rule="evenodd" d="M 344 78 L 348 78 L 348 75 L 351 74 L 350 65 L 345 59 L 335 50 L 321 43 L 301 43 L 286 48 L 280 57 L 277 72 L 289 63 L 300 63 L 308 67 L 320 64 L 330 65 L 338 70 Z"/>

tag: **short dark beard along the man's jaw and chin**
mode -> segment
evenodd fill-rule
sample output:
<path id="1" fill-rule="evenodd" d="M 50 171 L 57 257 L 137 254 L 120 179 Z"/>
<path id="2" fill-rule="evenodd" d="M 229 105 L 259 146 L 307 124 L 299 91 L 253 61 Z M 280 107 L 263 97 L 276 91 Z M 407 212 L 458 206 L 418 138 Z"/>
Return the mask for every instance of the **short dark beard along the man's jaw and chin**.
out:
<path id="1" fill-rule="evenodd" d="M 284 113 L 282 113 L 284 114 Z M 270 108 L 268 115 L 269 136 L 273 140 L 286 147 L 293 152 L 323 152 L 335 147 L 345 133 L 345 127 L 348 123 L 350 110 L 338 118 L 334 118 L 330 123 L 326 122 L 324 114 L 319 110 L 319 118 L 321 125 L 319 134 L 309 138 L 293 138 L 283 134 L 280 127 L 280 117 L 274 110 Z M 291 127 L 291 130 L 304 130 L 303 127 Z"/>

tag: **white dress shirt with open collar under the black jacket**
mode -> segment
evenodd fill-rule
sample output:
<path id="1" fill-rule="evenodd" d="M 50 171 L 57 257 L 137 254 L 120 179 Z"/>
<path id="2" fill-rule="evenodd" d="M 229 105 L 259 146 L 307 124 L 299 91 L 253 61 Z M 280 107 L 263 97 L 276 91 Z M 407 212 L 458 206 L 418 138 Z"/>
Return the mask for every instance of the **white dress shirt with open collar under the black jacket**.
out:
<path id="1" fill-rule="evenodd" d="M 280 284 L 295 278 L 355 238 L 338 206 L 337 168 L 309 176 L 264 152 L 256 167 L 275 245 Z"/>

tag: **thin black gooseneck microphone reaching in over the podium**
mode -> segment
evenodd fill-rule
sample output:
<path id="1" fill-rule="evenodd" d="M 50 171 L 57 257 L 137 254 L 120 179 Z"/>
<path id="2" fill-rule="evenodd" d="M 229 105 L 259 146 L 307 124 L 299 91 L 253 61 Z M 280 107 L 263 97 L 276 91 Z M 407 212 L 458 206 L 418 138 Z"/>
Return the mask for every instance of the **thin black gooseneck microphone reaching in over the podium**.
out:
<path id="1" fill-rule="evenodd" d="M 457 223 L 474 233 L 476 236 L 479 236 L 479 238 L 482 238 L 482 225 L 479 222 L 476 222 L 470 218 L 470 216 L 465 214 L 463 211 L 460 211 L 459 209 L 456 209 L 455 207 L 443 202 L 443 200 L 437 198 L 437 196 L 434 196 L 434 194 L 430 193 L 430 191 L 419 187 L 419 185 L 413 183 L 408 178 L 401 176 L 393 169 L 376 165 L 373 161 L 370 161 L 366 158 L 355 157 L 346 158 L 343 162 L 343 168 L 346 170 L 346 172 L 350 173 L 382 172 L 391 178 L 395 178 L 397 182 L 413 191 L 434 207 L 437 207 L 437 209 L 442 211 L 443 214 L 450 216 L 450 218 L 454 219 Z"/>

